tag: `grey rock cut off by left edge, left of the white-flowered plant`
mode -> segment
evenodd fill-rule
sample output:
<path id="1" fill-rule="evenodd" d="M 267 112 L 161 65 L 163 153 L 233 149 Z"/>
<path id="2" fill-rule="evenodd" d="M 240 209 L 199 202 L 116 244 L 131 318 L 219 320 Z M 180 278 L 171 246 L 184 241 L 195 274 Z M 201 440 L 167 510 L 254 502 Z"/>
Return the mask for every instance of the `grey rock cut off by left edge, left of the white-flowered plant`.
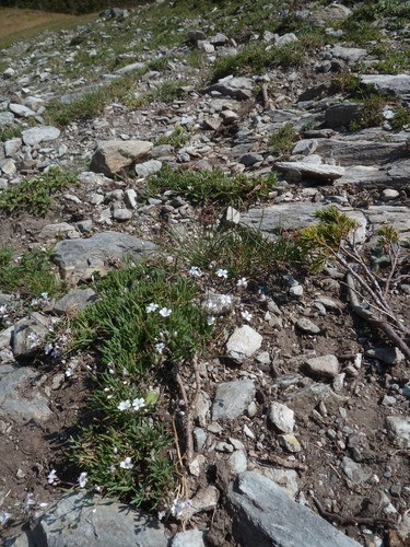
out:
<path id="1" fill-rule="evenodd" d="M 51 417 L 48 401 L 36 387 L 26 389 L 38 372 L 30 366 L 0 366 L 0 417 L 16 423 L 44 422 Z M 28 395 L 30 393 L 30 395 Z"/>

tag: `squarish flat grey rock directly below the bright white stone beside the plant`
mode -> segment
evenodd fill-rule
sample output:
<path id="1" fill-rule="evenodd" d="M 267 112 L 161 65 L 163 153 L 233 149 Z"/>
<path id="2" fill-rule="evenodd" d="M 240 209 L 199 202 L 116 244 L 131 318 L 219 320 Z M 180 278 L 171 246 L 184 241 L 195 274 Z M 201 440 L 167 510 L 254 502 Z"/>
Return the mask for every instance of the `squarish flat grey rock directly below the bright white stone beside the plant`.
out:
<path id="1" fill-rule="evenodd" d="M 255 384 L 251 380 L 225 382 L 216 387 L 212 405 L 213 420 L 233 420 L 243 415 L 255 397 Z"/>

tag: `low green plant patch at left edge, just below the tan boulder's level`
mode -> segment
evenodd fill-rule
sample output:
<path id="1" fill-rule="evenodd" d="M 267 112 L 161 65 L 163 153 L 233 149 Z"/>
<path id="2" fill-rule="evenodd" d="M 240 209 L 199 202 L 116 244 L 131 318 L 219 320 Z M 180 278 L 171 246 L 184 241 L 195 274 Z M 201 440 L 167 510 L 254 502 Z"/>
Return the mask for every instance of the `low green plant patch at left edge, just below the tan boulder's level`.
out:
<path id="1" fill-rule="evenodd" d="M 0 210 L 7 213 L 25 210 L 31 214 L 45 216 L 52 206 L 52 195 L 75 183 L 73 173 L 50 167 L 42 175 L 0 191 Z"/>

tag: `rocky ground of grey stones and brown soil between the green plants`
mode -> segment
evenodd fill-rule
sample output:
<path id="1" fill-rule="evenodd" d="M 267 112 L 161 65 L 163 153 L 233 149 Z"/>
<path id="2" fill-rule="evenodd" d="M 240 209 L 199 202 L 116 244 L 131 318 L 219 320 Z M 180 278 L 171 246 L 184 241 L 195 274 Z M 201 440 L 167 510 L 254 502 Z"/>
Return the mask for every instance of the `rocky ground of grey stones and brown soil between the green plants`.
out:
<path id="1" fill-rule="evenodd" d="M 350 8 L 303 3 L 297 16 L 328 30 L 329 43 L 296 67 L 254 75 L 244 69 L 213 83 L 208 66 L 242 48 L 241 33 L 230 34 L 227 19 L 221 33 L 212 19 L 186 16 L 175 31 L 179 42 L 163 46 L 154 44 L 154 30 L 139 28 L 148 13 L 141 8 L 2 53 L 0 129 L 19 127 L 20 135 L 4 137 L 0 148 L 0 188 L 54 165 L 79 173 L 79 185 L 57 193 L 44 217 L 0 211 L 0 244 L 15 255 L 52 248 L 71 291 L 32 303 L 30 313 L 24 291 L 0 294 L 5 545 L 81 545 L 86 537 L 92 545 L 156 546 L 173 536 L 175 546 L 410 545 L 409 360 L 351 313 L 343 275 L 331 267 L 308 277 L 290 272 L 270 287 L 215 281 L 212 305 L 225 328 L 214 351 L 200 359 L 198 377 L 184 373 L 186 385 L 200 389 L 186 477 L 190 502 L 174 519 L 121 512 L 115 503 L 87 501 L 82 491 L 67 498 L 47 481 L 51 469 L 67 466 L 67 439 L 87 397 L 93 363 L 81 356 L 50 365 L 42 357 L 45 337 L 57 319 L 93 300 L 92 289 L 75 288 L 94 271 L 106 271 L 124 253 L 138 257 L 154 243 L 169 242 L 169 228 L 191 237 L 226 214 L 273 237 L 309 225 L 316 210 L 337 205 L 359 222 L 360 244 L 386 224 L 401 242 L 409 237 L 409 119 L 399 128 L 393 121 L 398 112 L 409 116 L 409 67 L 398 74 L 377 70 L 374 44 L 347 42 L 335 28 Z M 389 28 L 385 20 L 375 26 Z M 384 40 L 406 50 L 408 22 L 397 26 L 385 31 Z M 119 53 L 110 37 L 130 28 L 132 42 Z M 247 33 L 267 47 L 298 40 L 297 32 Z M 187 62 L 197 54 L 199 68 Z M 80 57 L 95 66 L 80 70 Z M 50 125 L 49 101 L 70 104 L 159 59 L 161 70 L 142 73 L 131 98 L 164 82 L 181 89 L 177 97 L 136 105 L 128 96 L 91 118 Z M 378 124 L 353 131 L 350 124 L 358 113 L 365 115 L 366 104 L 335 89 L 335 79 L 359 63 L 358 81 L 388 100 Z M 286 124 L 294 142 L 279 151 L 272 135 Z M 249 176 L 278 172 L 279 184 L 267 202 L 249 200 L 229 213 L 167 191 L 147 198 L 147 178 L 165 163 Z M 402 254 L 401 274 L 408 276 L 405 243 Z M 394 287 L 393 305 L 407 325 L 409 298 L 403 277 Z M 71 479 L 73 473 L 66 469 Z M 80 536 L 70 522 L 79 524 Z M 26 532 L 10 539 L 22 526 Z"/>

